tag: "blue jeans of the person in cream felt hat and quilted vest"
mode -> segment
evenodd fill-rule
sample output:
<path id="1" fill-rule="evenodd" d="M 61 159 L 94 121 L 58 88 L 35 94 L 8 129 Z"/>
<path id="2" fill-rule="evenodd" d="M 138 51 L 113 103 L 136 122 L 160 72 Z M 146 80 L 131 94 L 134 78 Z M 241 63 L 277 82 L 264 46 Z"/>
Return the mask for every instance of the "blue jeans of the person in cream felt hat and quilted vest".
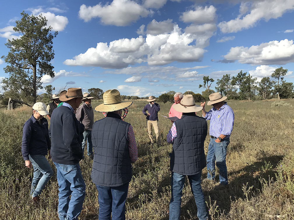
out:
<path id="1" fill-rule="evenodd" d="M 197 205 L 197 216 L 199 220 L 206 220 L 208 214 L 206 204 L 201 188 L 201 172 L 195 175 L 187 176 L 190 182 L 191 191 Z M 171 172 L 171 202 L 169 203 L 169 219 L 180 220 L 181 197 L 185 183 L 185 176 L 176 172 Z"/>

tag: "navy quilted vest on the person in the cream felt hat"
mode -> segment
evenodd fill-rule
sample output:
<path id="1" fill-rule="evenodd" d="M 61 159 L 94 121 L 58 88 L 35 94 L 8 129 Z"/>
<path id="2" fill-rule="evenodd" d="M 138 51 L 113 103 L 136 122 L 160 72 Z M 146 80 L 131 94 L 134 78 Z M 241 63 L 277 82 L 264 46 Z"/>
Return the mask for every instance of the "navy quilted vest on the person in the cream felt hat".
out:
<path id="1" fill-rule="evenodd" d="M 175 121 L 177 136 L 170 154 L 170 166 L 171 171 L 181 175 L 195 175 L 206 167 L 204 141 L 207 122 L 192 114 L 183 113 L 182 118 Z"/>

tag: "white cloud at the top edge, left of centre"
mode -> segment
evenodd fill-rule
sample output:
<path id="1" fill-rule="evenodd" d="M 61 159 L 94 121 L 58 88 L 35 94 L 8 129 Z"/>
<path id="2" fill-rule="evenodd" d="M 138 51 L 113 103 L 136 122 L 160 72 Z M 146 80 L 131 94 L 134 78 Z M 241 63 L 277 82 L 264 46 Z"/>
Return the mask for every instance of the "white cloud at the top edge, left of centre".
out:
<path id="1" fill-rule="evenodd" d="M 102 23 L 115 26 L 127 26 L 148 14 L 147 9 L 131 0 L 113 0 L 111 4 L 103 6 L 100 3 L 93 7 L 83 4 L 78 12 L 79 17 L 86 22 L 99 17 Z"/>

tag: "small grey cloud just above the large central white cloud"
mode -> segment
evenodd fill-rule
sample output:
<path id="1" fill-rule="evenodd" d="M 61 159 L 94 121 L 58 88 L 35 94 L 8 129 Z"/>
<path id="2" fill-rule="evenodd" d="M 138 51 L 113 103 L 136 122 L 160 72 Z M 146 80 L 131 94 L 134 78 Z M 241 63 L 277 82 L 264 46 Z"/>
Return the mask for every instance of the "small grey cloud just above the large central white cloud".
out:
<path id="1" fill-rule="evenodd" d="M 159 34 L 166 34 L 171 33 L 173 31 L 173 20 L 168 19 L 166 21 L 160 21 L 157 22 L 155 19 L 153 19 L 148 25 L 147 25 L 147 34 L 151 35 L 159 35 Z"/>

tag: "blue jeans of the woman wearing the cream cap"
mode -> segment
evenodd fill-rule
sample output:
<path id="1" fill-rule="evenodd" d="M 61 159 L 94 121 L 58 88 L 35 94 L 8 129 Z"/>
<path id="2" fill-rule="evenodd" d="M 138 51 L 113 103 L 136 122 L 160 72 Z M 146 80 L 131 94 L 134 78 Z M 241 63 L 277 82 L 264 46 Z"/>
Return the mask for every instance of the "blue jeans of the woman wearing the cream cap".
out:
<path id="1" fill-rule="evenodd" d="M 53 170 L 44 155 L 29 155 L 34 168 L 34 177 L 31 185 L 31 196 L 39 196 L 46 184 L 53 176 Z"/>

